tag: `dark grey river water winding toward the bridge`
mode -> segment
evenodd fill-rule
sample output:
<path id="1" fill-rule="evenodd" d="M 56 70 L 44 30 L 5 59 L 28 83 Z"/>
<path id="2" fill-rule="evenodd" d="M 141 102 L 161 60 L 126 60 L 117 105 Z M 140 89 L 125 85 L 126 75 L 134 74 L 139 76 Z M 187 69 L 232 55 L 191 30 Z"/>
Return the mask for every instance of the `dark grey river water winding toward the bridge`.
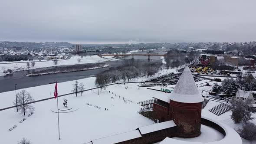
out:
<path id="1" fill-rule="evenodd" d="M 136 53 L 147 53 L 147 52 L 136 52 Z M 125 57 L 124 59 L 131 59 L 132 56 Z M 135 59 L 140 59 L 142 61 L 148 61 L 148 56 L 134 56 Z M 160 60 L 159 56 L 151 56 L 151 59 L 153 61 Z M 7 92 L 12 91 L 15 89 L 14 84 L 16 85 L 17 89 L 20 88 L 29 88 L 39 85 L 47 85 L 49 83 L 56 82 L 56 79 L 58 82 L 67 82 L 77 79 L 84 79 L 88 77 L 92 77 L 99 72 L 105 71 L 111 67 L 116 67 L 122 65 L 123 60 L 118 61 L 107 61 L 104 62 L 106 64 L 109 64 L 110 67 L 101 68 L 101 69 L 93 69 L 93 70 L 87 70 L 87 71 L 79 71 L 79 72 L 66 72 L 66 73 L 56 73 L 51 75 L 41 75 L 41 76 L 35 76 L 35 77 L 28 77 L 24 76 L 28 74 L 28 70 L 26 71 L 19 71 L 15 72 L 14 75 L 11 76 L 0 76 L 0 92 Z M 51 69 L 51 68 L 42 68 L 42 69 L 35 69 L 35 71 L 43 70 L 43 69 Z M 30 70 L 31 72 L 32 70 Z"/>

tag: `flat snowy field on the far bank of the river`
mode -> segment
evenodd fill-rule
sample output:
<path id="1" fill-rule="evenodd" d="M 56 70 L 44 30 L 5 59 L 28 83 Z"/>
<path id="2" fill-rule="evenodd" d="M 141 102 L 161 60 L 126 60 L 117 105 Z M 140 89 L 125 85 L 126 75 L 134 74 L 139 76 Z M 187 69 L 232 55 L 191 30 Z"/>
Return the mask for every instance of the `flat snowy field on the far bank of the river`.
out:
<path id="1" fill-rule="evenodd" d="M 78 62 L 78 59 L 81 59 L 80 62 Z M 104 59 L 99 56 L 84 56 L 81 58 L 80 56 L 72 56 L 70 59 L 65 59 L 65 60 L 58 60 L 59 65 L 77 65 L 77 64 L 86 64 L 86 63 L 96 63 L 96 62 L 105 62 L 109 60 L 117 60 L 117 59 Z M 31 61 L 28 61 L 31 62 Z M 30 68 L 29 69 L 39 69 L 39 68 L 46 68 L 46 67 L 51 67 L 51 66 L 56 66 L 52 60 L 46 61 L 46 62 L 36 62 L 35 66 L 32 67 L 30 63 Z M 27 70 L 27 65 L 26 63 L 8 63 L 8 64 L 0 64 L 0 76 L 4 75 L 3 71 L 7 69 L 12 69 L 14 72 L 16 71 L 22 71 L 22 70 Z"/>

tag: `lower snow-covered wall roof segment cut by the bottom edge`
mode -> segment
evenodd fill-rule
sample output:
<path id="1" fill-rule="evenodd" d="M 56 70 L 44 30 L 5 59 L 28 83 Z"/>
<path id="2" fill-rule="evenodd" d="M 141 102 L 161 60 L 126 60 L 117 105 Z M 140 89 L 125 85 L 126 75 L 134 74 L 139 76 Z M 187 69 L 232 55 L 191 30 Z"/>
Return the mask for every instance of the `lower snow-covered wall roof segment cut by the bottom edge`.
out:
<path id="1" fill-rule="evenodd" d="M 93 144 L 116 144 L 122 141 L 128 141 L 134 138 L 141 137 L 140 131 L 129 131 L 121 134 L 103 137 L 100 139 L 92 140 Z"/>

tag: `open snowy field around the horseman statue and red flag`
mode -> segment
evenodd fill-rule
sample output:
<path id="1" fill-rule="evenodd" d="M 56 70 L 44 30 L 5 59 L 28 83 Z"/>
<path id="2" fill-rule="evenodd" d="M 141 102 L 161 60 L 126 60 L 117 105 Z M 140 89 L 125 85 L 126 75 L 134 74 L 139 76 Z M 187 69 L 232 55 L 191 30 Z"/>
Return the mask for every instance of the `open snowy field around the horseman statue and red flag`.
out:
<path id="1" fill-rule="evenodd" d="M 43 85 L 26 89 L 35 97 L 39 89 L 53 92 L 54 85 L 47 86 Z M 127 86 L 128 89 L 125 89 Z M 65 92 L 67 87 L 69 85 L 65 87 L 64 84 L 59 83 L 59 94 Z M 110 93 L 107 92 L 109 90 Z M 44 97 L 44 94 L 41 94 L 41 92 L 43 91 L 40 91 L 41 97 Z M 112 94 L 112 92 L 114 93 Z M 4 136 L 2 137 L 4 143 L 10 144 L 15 144 L 22 137 L 29 138 L 34 144 L 81 144 L 99 137 L 132 131 L 138 127 L 154 123 L 137 113 L 141 106 L 136 101 L 151 98 L 148 95 L 153 95 L 151 92 L 146 88 L 138 89 L 136 85 L 121 84 L 107 87 L 100 92 L 99 96 L 96 90 L 95 92 L 93 90 L 84 92 L 82 96 L 79 95 L 78 97 L 75 97 L 75 95 L 66 96 L 68 106 L 79 109 L 71 113 L 59 115 L 62 138 L 60 142 L 58 140 L 57 114 L 51 111 L 56 109 L 56 99 L 33 104 L 35 113 L 30 117 L 25 116 L 27 120 L 21 124 L 19 121 L 24 117 L 16 113 L 15 108 L 0 111 L 0 135 Z M 115 96 L 115 93 L 117 93 L 117 96 Z M 162 92 L 158 93 L 162 94 Z M 120 98 L 118 97 L 119 95 Z M 129 95 L 131 96 L 129 97 Z M 125 97 L 126 103 L 122 100 L 122 97 Z M 62 107 L 62 102 L 63 98 L 59 98 L 60 107 Z M 86 105 L 86 103 L 92 104 L 92 106 Z M 94 105 L 101 108 L 95 108 Z M 105 111 L 105 108 L 108 111 Z M 18 125 L 17 128 L 13 131 L 8 131 L 14 124 Z"/>

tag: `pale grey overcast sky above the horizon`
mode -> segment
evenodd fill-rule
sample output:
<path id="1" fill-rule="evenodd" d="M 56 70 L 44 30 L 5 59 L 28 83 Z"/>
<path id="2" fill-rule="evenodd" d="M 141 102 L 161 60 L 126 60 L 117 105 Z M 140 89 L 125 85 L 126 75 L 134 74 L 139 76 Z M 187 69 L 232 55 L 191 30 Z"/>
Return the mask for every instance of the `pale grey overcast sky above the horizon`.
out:
<path id="1" fill-rule="evenodd" d="M 0 41 L 256 40 L 256 0 L 0 0 Z"/>

